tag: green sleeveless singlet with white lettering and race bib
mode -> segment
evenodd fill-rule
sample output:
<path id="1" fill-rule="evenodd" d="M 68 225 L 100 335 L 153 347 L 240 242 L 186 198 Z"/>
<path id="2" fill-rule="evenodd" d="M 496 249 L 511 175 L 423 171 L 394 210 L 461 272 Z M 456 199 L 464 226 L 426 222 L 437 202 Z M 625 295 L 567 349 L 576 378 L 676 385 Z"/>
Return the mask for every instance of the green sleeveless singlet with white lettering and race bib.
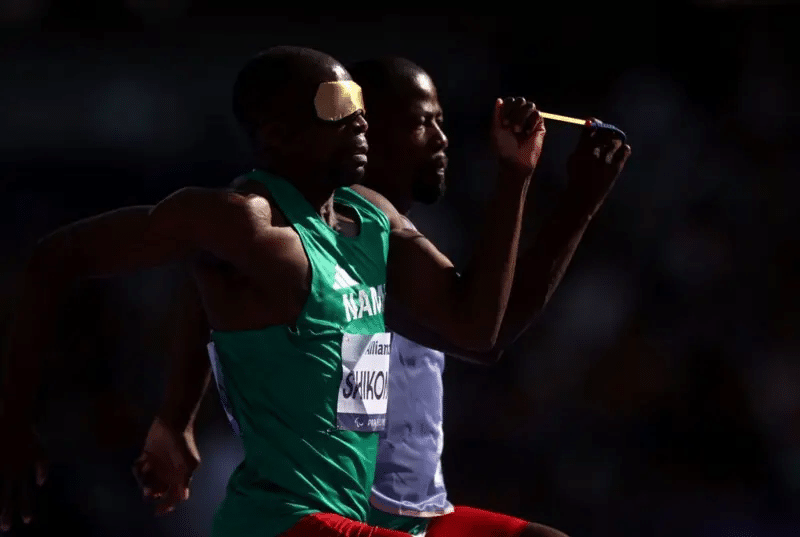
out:
<path id="1" fill-rule="evenodd" d="M 340 188 L 335 201 L 360 221 L 358 236 L 346 237 L 289 182 L 259 170 L 248 177 L 300 236 L 311 290 L 296 326 L 212 332 L 245 452 L 212 534 L 274 536 L 315 512 L 365 521 L 388 400 L 388 218 Z"/>

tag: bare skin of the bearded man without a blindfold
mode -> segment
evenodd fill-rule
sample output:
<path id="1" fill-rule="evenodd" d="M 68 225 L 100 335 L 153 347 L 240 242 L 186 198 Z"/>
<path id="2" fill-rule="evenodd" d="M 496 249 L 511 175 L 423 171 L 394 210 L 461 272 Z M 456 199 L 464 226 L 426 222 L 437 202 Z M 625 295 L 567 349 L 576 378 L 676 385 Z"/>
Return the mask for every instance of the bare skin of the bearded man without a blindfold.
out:
<path id="1" fill-rule="evenodd" d="M 430 77 L 408 62 L 398 61 L 396 76 L 386 88 L 365 89 L 373 122 L 369 131 L 370 161 L 364 184 L 380 192 L 405 215 L 413 203 L 430 204 L 445 192 L 443 113 Z M 379 118 L 379 120 L 378 120 Z M 387 297 L 387 325 L 421 344 L 477 363 L 492 363 L 540 315 L 558 286 L 589 222 L 602 206 L 627 158 L 630 147 L 607 132 L 586 130 L 568 162 L 569 187 L 563 201 L 545 222 L 533 246 L 518 261 L 514 285 L 500 335 L 487 352 L 451 345 L 422 327 L 412 316 L 393 307 Z M 164 404 L 154 420 L 135 471 L 148 485 L 145 495 L 160 500 L 156 512 L 172 511 L 188 498 L 189 482 L 200 462 L 194 438 L 194 416 L 205 393 L 211 370 L 205 345 L 208 331 L 197 330 L 199 306 L 183 298 L 185 315 L 174 331 L 177 343 L 170 359 L 174 373 Z M 195 291 L 196 293 L 196 291 Z M 194 379 L 194 380 L 192 380 Z M 187 441 L 191 440 L 191 444 Z M 178 461 L 175 463 L 174 461 Z M 531 535 L 563 535 L 532 524 Z M 548 533 L 548 531 L 550 533 Z"/>

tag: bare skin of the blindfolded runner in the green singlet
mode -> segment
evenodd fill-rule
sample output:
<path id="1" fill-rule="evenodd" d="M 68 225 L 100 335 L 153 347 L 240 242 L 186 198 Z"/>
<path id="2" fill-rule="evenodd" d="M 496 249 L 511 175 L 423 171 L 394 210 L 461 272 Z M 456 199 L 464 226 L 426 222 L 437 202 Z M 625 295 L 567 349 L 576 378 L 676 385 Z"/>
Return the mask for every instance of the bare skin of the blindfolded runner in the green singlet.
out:
<path id="1" fill-rule="evenodd" d="M 333 193 L 362 179 L 368 125 L 361 113 L 321 122 L 311 117 L 310 106 L 319 84 L 350 80 L 350 75 L 333 58 L 309 49 L 279 47 L 270 53 L 286 56 L 293 75 L 280 100 L 282 109 L 264 106 L 264 114 L 247 125 L 259 164 L 291 181 L 331 228 L 352 232 L 356 223 L 337 210 Z M 532 103 L 498 100 L 492 133 L 500 162 L 497 189 L 464 277 L 386 198 L 357 187 L 389 220 L 387 289 L 393 290 L 397 306 L 472 351 L 491 349 L 500 330 L 544 127 Z M 0 446 L 0 527 L 8 529 L 16 512 L 30 520 L 35 470 L 44 466 L 33 428 L 41 356 L 52 341 L 58 305 L 70 284 L 189 259 L 205 260 L 195 273 L 207 319 L 216 330 L 291 325 L 309 292 L 308 259 L 297 233 L 269 194 L 252 183 L 232 189 L 184 188 L 155 206 L 81 220 L 39 242 L 25 270 L 5 360 L 0 431 L 8 440 Z"/>

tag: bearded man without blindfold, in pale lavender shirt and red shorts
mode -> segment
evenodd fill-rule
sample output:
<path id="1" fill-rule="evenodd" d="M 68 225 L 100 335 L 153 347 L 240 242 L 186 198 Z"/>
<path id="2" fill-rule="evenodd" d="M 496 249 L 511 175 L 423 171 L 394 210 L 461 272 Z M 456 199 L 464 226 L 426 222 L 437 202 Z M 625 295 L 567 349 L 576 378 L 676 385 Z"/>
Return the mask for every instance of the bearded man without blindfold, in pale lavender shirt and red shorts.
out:
<path id="1" fill-rule="evenodd" d="M 439 200 L 445 191 L 448 140 L 431 78 L 403 58 L 366 60 L 348 69 L 362 86 L 369 110 L 370 159 L 364 184 L 385 195 L 404 215 L 414 203 L 431 204 Z M 370 524 L 411 533 L 426 531 L 427 537 L 449 534 L 564 537 L 558 530 L 541 524 L 460 505 L 453 509 L 449 504 L 440 461 L 444 356 L 433 349 L 443 349 L 450 356 L 475 362 L 496 361 L 544 309 L 629 155 L 630 147 L 615 141 L 612 132 L 583 133 L 569 160 L 567 192 L 532 246 L 520 256 L 495 348 L 488 352 L 465 352 L 434 334 L 422 333 L 418 326 L 414 327 L 417 341 L 432 348 L 393 335 L 392 389 L 387 430 L 381 433 L 379 441 Z M 187 298 L 191 298 L 190 293 L 184 300 Z M 199 404 L 199 399 L 180 401 L 177 394 L 188 395 L 188 389 L 201 397 L 212 367 L 227 410 L 230 404 L 225 397 L 224 382 L 220 382 L 218 360 L 212 358 L 209 364 L 204 348 L 208 333 L 198 330 L 204 321 L 195 312 L 202 313 L 202 307 L 186 300 L 182 310 L 185 317 L 175 331 L 177 347 L 171 359 L 183 362 L 187 368 L 168 384 L 162 414 L 169 415 L 168 408 L 176 405 Z M 388 328 L 395 332 L 403 330 L 406 320 L 391 314 L 390 308 Z M 230 411 L 228 418 L 238 433 L 239 427 Z M 181 498 L 186 498 L 189 479 L 198 463 L 193 425 L 182 431 L 171 430 L 156 419 L 137 468 L 147 465 L 143 482 L 147 495 L 159 500 L 157 513 L 170 511 Z M 384 510 L 374 508 L 375 505 Z M 400 509 L 406 516 L 396 514 Z"/>

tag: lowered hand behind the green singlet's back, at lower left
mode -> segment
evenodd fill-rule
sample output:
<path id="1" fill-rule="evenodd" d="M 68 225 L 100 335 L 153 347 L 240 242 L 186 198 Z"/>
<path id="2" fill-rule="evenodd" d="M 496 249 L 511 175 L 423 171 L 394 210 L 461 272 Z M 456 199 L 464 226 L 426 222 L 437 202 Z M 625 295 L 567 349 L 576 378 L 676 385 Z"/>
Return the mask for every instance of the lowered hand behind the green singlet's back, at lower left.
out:
<path id="1" fill-rule="evenodd" d="M 133 465 L 144 497 L 158 501 L 156 515 L 170 513 L 189 499 L 189 483 L 199 464 L 193 430 L 175 431 L 156 418 Z"/>

